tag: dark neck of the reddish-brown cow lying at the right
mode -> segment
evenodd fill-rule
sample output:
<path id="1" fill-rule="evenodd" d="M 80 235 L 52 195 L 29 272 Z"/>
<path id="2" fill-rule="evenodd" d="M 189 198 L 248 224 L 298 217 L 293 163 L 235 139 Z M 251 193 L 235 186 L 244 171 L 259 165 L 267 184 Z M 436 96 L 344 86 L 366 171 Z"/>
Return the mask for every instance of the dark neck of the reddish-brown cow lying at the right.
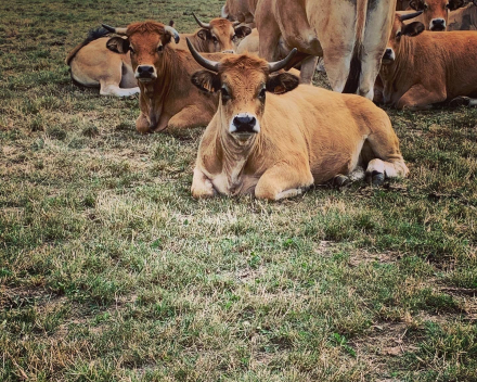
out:
<path id="1" fill-rule="evenodd" d="M 402 91 L 404 88 L 404 91 L 407 91 L 408 84 L 414 80 L 412 73 L 412 67 L 414 66 L 413 38 L 414 37 L 403 36 L 399 47 L 399 56 L 396 58 L 391 65 L 382 65 L 381 78 L 384 85 L 385 103 L 399 101 L 399 99 L 394 100 L 394 97 L 398 96 L 401 98 L 402 94 L 397 94 L 397 92 Z"/>

